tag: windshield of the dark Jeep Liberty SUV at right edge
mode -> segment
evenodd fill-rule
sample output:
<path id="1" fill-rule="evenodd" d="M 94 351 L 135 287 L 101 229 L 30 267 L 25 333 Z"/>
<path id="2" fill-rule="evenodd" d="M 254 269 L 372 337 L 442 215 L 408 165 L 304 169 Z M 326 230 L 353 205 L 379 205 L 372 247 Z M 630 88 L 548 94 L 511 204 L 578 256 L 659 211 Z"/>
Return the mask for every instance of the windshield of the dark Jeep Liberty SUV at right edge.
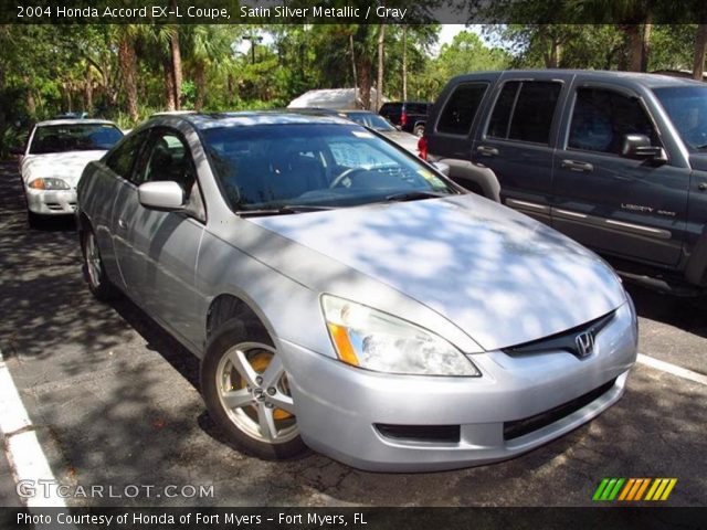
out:
<path id="1" fill-rule="evenodd" d="M 707 87 L 672 86 L 653 91 L 692 151 L 707 149 Z"/>

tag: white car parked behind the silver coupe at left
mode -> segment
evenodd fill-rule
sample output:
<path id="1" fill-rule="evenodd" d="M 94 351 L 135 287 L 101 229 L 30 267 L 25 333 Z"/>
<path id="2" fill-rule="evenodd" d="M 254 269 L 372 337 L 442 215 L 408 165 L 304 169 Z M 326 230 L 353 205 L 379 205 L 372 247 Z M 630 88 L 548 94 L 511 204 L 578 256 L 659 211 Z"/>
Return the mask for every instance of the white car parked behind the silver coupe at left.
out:
<path id="1" fill-rule="evenodd" d="M 49 215 L 73 214 L 84 168 L 120 138 L 123 132 L 115 124 L 101 119 L 36 124 L 20 162 L 30 226 L 36 227 Z"/>

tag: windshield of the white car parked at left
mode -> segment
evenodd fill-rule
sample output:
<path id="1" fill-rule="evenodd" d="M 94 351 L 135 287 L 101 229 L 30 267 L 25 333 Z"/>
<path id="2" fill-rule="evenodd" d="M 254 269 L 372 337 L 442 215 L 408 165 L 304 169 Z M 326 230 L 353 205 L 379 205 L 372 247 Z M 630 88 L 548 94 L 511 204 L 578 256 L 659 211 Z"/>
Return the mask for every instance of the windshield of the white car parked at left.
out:
<path id="1" fill-rule="evenodd" d="M 34 131 L 30 153 L 108 150 L 120 138 L 120 129 L 110 124 L 43 125 Z"/>

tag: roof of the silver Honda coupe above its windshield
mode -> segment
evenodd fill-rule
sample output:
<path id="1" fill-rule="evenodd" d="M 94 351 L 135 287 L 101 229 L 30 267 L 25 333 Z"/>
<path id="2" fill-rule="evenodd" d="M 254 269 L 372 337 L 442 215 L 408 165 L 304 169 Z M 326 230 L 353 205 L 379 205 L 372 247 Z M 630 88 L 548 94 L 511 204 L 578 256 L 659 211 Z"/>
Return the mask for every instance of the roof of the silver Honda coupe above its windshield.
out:
<path id="1" fill-rule="evenodd" d="M 352 125 L 348 119 L 335 115 L 313 115 L 297 112 L 257 110 L 215 114 L 186 114 L 159 116 L 162 123 L 189 123 L 194 128 L 213 129 L 219 127 L 245 127 L 253 125 Z M 151 121 L 151 120 L 150 120 Z"/>

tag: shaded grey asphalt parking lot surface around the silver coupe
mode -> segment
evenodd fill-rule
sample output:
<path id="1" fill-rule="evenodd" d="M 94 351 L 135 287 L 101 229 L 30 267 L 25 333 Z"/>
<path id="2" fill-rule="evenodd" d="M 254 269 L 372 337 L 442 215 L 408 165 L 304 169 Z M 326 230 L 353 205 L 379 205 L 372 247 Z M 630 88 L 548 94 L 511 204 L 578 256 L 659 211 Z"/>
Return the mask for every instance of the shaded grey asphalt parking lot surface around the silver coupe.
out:
<path id="1" fill-rule="evenodd" d="M 62 484 L 114 494 L 155 486 L 151 497 L 68 506 L 591 506 L 603 477 L 675 477 L 671 506 L 705 504 L 707 385 L 643 363 L 600 417 L 502 464 L 387 475 L 316 454 L 244 456 L 205 412 L 198 361 L 129 300 L 92 298 L 73 223 L 30 231 L 25 219 L 15 166 L 0 165 L 0 350 L 51 469 Z M 630 290 L 640 351 L 706 374 L 707 299 Z M 17 506 L 7 467 L 0 455 L 0 505 Z M 167 485 L 213 495 L 160 495 Z"/>

